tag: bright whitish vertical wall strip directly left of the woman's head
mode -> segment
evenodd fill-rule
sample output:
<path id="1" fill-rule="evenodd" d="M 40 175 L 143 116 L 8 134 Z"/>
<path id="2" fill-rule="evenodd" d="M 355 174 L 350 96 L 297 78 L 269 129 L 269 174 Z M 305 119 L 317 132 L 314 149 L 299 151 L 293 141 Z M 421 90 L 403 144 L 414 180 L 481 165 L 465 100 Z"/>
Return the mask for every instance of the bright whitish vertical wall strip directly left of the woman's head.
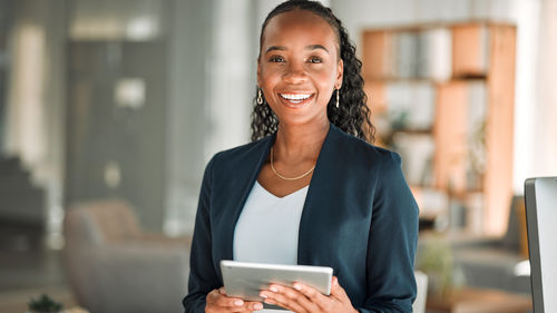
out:
<path id="1" fill-rule="evenodd" d="M 215 153 L 246 144 L 255 75 L 250 0 L 216 0 L 213 47 L 209 53 L 208 106 L 212 134 L 205 159 Z"/>

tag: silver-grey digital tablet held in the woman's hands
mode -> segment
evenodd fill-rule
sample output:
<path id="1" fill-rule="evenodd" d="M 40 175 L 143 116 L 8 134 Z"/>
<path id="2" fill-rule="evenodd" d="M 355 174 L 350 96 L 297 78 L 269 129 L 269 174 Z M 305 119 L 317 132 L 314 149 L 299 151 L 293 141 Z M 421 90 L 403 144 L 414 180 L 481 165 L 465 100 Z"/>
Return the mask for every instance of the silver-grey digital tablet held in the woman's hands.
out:
<path id="1" fill-rule="evenodd" d="M 224 287 L 227 296 L 236 296 L 246 301 L 263 301 L 262 290 L 271 284 L 292 286 L 299 282 L 312 286 L 322 294 L 331 293 L 333 268 L 310 265 L 281 265 L 265 263 L 247 263 L 221 261 Z"/>

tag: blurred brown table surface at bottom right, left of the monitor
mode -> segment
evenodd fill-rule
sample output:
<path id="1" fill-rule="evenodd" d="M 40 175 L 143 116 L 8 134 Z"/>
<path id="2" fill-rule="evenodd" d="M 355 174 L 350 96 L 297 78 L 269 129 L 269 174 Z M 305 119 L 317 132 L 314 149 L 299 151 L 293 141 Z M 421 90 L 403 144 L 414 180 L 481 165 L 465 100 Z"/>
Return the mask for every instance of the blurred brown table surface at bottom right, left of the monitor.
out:
<path id="1" fill-rule="evenodd" d="M 428 312 L 434 313 L 527 313 L 531 297 L 497 290 L 459 288 L 446 299 L 428 297 Z"/>

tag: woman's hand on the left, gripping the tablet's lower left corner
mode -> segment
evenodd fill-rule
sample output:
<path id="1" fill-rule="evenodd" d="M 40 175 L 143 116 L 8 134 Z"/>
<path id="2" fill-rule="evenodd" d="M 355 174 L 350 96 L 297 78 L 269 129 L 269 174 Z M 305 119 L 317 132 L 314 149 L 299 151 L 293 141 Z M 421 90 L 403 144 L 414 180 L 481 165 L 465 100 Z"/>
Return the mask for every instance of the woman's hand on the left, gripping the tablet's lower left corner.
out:
<path id="1" fill-rule="evenodd" d="M 214 290 L 207 294 L 206 313 L 227 313 L 227 312 L 253 312 L 263 309 L 261 302 L 243 301 L 240 297 L 226 296 L 224 287 Z"/>

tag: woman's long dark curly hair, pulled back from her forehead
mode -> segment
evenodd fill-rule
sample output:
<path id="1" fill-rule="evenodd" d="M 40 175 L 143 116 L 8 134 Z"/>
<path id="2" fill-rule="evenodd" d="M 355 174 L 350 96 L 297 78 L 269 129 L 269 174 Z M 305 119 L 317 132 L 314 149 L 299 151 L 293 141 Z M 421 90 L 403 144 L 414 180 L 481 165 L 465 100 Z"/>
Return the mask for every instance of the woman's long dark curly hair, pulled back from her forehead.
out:
<path id="1" fill-rule="evenodd" d="M 371 124 L 371 111 L 367 106 L 368 97 L 363 91 L 363 78 L 361 75 L 362 62 L 355 57 L 355 47 L 350 41 L 349 36 L 341 21 L 333 14 L 331 9 L 317 1 L 289 0 L 274 8 L 266 17 L 261 27 L 260 53 L 263 43 L 263 31 L 268 21 L 284 12 L 296 9 L 310 11 L 323 18 L 335 31 L 339 39 L 340 56 L 344 62 L 344 75 L 340 90 L 340 104 L 336 108 L 335 97 L 331 97 L 326 106 L 329 120 L 343 131 L 373 143 L 375 128 Z M 267 101 L 257 105 L 257 90 L 255 90 L 254 109 L 252 113 L 252 140 L 255 141 L 265 136 L 274 134 L 278 128 L 278 119 L 273 113 Z"/>

